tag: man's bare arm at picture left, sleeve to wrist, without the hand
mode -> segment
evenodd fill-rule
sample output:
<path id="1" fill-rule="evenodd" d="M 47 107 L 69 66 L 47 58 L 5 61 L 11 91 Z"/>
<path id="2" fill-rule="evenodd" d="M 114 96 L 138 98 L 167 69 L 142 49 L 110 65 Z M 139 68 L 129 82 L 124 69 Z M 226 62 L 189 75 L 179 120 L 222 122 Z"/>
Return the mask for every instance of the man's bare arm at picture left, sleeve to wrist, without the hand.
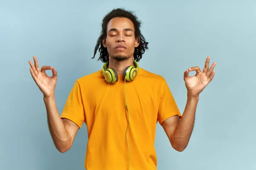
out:
<path id="1" fill-rule="evenodd" d="M 58 151 L 64 153 L 72 146 L 79 126 L 69 119 L 63 119 L 62 121 L 57 110 L 54 95 L 44 97 L 44 103 L 47 110 L 47 122 L 52 140 Z"/>

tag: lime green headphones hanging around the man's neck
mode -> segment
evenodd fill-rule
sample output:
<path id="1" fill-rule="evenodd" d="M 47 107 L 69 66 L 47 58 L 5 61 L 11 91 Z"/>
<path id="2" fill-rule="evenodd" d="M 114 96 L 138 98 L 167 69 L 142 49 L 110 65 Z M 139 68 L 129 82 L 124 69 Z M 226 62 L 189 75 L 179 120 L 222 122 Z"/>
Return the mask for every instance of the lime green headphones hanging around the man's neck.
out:
<path id="1" fill-rule="evenodd" d="M 130 65 L 130 66 L 125 68 L 124 77 L 127 81 L 134 80 L 136 78 L 138 72 L 139 72 L 139 65 L 136 61 L 134 61 L 134 66 Z M 118 81 L 118 75 L 117 75 L 115 69 L 108 68 L 106 70 L 107 67 L 108 67 L 108 62 L 106 62 L 103 65 L 103 68 L 102 68 L 102 74 L 105 77 L 106 81 L 109 82 L 109 83 L 117 82 Z"/>

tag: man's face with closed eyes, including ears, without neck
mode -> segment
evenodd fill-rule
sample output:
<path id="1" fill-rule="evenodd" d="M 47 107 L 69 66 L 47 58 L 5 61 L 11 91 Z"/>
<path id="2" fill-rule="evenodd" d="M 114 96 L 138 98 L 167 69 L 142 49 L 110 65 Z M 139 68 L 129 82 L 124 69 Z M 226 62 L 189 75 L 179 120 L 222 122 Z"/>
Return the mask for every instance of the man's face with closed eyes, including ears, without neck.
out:
<path id="1" fill-rule="evenodd" d="M 108 22 L 107 37 L 102 41 L 109 57 L 117 60 L 133 57 L 134 48 L 139 46 L 139 42 L 139 38 L 135 39 L 133 22 L 124 17 L 115 17 Z"/>

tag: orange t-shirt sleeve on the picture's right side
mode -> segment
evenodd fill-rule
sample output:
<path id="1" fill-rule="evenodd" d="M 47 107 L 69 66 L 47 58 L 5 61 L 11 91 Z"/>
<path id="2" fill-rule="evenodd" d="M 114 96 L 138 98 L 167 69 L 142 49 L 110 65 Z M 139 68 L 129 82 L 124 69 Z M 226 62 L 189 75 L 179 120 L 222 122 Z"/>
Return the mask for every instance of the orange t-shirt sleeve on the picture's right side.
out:
<path id="1" fill-rule="evenodd" d="M 167 85 L 166 80 L 164 79 L 161 94 L 163 95 L 160 100 L 160 105 L 158 108 L 158 121 L 160 125 L 162 125 L 163 121 L 168 119 L 171 116 L 178 115 L 181 118 L 180 111 L 177 107 L 174 97 L 172 96 L 172 92 L 170 91 L 169 86 Z"/>

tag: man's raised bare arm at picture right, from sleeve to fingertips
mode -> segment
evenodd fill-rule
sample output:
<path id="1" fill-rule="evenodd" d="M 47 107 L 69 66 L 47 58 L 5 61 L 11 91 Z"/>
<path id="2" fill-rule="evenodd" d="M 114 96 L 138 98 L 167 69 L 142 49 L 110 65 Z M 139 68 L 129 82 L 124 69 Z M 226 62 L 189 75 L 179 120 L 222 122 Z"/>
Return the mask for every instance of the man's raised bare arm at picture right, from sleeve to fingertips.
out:
<path id="1" fill-rule="evenodd" d="M 199 100 L 199 94 L 214 77 L 213 68 L 216 62 L 209 68 L 207 57 L 204 70 L 192 67 L 184 72 L 184 81 L 187 88 L 187 102 L 181 119 L 178 115 L 171 116 L 162 122 L 163 129 L 172 144 L 172 147 L 182 152 L 188 145 L 195 122 L 195 111 Z M 189 77 L 189 71 L 196 71 L 195 76 Z"/>

